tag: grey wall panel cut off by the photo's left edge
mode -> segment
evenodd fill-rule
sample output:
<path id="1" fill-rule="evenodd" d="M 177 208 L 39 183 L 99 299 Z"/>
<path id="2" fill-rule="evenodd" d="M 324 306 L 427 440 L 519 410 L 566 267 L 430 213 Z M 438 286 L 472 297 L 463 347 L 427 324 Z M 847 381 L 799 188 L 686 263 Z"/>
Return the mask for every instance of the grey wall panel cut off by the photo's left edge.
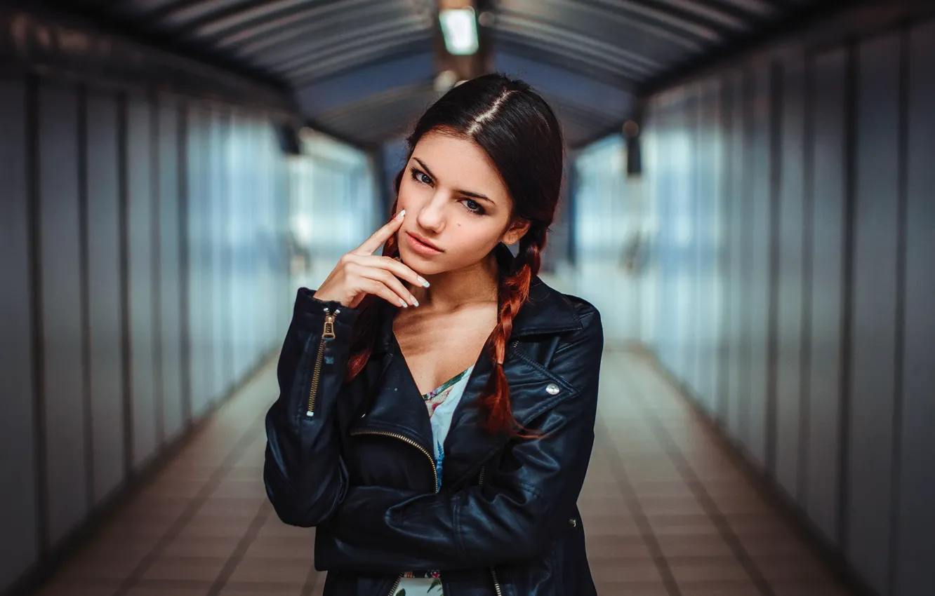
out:
<path id="1" fill-rule="evenodd" d="M 0 453 L 17 454 L 0 460 L 0 478 L 16 487 L 0 492 L 0 586 L 21 575 L 38 555 L 26 106 L 24 81 L 0 78 L 0 272 L 5 286 L 0 291 L 0 379 L 6 396 Z"/>

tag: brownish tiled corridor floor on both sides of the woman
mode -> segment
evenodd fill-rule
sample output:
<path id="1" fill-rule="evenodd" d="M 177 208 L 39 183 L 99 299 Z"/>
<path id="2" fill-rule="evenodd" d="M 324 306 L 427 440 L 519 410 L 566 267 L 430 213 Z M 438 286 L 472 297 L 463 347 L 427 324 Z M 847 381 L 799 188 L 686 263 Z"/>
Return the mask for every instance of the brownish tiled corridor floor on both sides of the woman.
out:
<path id="1" fill-rule="evenodd" d="M 263 415 L 275 392 L 269 366 L 38 593 L 321 593 L 312 531 L 266 503 Z M 580 504 L 601 596 L 847 594 L 640 355 L 606 354 L 600 403 Z"/>

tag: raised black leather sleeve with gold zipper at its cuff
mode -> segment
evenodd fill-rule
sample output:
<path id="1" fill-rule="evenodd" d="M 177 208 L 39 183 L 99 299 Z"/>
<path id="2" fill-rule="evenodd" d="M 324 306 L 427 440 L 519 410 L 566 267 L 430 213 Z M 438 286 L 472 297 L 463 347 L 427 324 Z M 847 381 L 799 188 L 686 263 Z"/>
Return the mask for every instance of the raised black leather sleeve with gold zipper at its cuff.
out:
<path id="1" fill-rule="evenodd" d="M 295 298 L 277 367 L 279 397 L 266 412 L 263 468 L 277 515 L 302 527 L 328 518 L 347 490 L 335 408 L 360 314 L 313 293 L 302 288 Z M 326 323 L 333 338 L 324 337 Z"/>

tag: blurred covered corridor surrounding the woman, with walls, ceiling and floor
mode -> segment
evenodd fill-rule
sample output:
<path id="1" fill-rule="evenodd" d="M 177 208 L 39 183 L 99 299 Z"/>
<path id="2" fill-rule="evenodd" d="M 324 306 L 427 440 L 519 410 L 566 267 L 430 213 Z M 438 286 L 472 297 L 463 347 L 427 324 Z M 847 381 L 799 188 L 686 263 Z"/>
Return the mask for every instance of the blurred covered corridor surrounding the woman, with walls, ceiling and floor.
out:
<path id="1" fill-rule="evenodd" d="M 321 592 L 261 478 L 295 291 L 490 71 L 568 142 L 600 593 L 935 595 L 928 0 L 0 1 L 0 593 Z"/>

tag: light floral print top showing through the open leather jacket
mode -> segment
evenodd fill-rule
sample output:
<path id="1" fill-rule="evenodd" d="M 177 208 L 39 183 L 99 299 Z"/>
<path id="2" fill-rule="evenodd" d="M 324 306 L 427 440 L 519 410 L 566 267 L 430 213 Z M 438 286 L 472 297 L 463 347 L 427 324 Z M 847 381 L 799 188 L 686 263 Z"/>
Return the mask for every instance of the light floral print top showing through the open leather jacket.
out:
<path id="1" fill-rule="evenodd" d="M 428 416 L 432 422 L 432 440 L 435 442 L 435 468 L 439 474 L 441 488 L 441 467 L 444 465 L 445 437 L 452 425 L 454 408 L 461 401 L 461 395 L 468 385 L 471 366 L 467 370 L 448 379 L 438 389 L 422 396 Z M 403 574 L 393 596 L 443 596 L 441 574 L 438 571 L 408 572 Z"/>

